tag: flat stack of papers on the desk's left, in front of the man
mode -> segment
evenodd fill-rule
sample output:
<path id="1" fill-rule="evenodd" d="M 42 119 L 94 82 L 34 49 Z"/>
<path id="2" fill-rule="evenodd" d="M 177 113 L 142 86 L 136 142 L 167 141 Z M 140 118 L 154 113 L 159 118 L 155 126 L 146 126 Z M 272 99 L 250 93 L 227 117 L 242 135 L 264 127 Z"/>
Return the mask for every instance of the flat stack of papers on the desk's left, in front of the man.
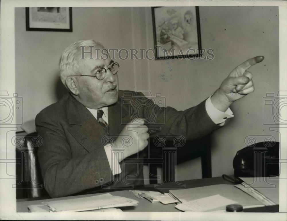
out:
<path id="1" fill-rule="evenodd" d="M 124 206 L 136 206 L 138 201 L 121 196 L 113 196 L 107 193 L 98 196 L 42 202 L 42 204 L 48 206 L 49 210 L 52 212 L 82 212 Z"/>

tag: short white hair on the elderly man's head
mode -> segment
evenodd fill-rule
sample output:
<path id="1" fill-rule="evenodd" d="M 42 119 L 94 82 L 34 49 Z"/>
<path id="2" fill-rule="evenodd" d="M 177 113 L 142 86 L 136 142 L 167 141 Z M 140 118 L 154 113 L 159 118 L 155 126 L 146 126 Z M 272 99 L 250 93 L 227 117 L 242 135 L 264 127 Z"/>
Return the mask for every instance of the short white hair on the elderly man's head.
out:
<path id="1" fill-rule="evenodd" d="M 79 55 L 82 53 L 82 47 L 80 46 L 100 46 L 104 48 L 100 42 L 95 40 L 79 40 L 69 45 L 59 60 L 60 77 L 65 87 L 67 87 L 67 77 L 71 75 L 81 75 L 78 63 Z"/>

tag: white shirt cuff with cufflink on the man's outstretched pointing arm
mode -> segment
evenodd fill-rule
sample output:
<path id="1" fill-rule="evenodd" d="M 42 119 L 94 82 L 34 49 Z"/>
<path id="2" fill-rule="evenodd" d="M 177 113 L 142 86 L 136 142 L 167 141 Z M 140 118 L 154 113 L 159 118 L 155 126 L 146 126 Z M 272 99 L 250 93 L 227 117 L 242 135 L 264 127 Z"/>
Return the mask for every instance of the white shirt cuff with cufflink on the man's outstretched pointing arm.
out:
<path id="1" fill-rule="evenodd" d="M 208 99 L 205 101 L 206 112 L 215 124 L 217 124 L 219 126 L 224 126 L 224 123 L 228 118 L 234 117 L 233 112 L 230 110 L 229 107 L 226 110 L 226 112 L 222 112 L 222 111 L 218 110 L 212 104 L 210 97 L 208 97 Z"/>

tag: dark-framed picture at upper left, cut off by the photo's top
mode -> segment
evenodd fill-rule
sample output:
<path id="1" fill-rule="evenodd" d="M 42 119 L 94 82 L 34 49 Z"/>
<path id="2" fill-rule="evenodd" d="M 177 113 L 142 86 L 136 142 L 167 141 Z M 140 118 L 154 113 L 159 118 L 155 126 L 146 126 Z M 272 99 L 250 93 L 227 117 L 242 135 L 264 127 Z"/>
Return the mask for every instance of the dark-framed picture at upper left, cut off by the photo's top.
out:
<path id="1" fill-rule="evenodd" d="M 26 8 L 26 31 L 73 31 L 72 8 Z"/>

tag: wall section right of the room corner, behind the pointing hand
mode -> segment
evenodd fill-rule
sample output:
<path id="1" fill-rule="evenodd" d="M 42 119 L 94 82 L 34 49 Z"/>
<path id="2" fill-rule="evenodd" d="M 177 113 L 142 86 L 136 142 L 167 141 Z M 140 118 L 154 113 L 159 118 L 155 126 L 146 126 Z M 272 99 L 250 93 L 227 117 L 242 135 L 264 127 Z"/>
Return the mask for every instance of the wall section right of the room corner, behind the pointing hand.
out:
<path id="1" fill-rule="evenodd" d="M 249 69 L 253 73 L 255 92 L 234 102 L 231 106 L 234 118 L 213 133 L 212 176 L 231 175 L 233 157 L 247 146 L 247 136 L 254 135 L 256 142 L 270 135 L 279 140 L 279 134 L 269 131 L 269 126 L 262 123 L 263 97 L 266 93 L 277 94 L 279 90 L 278 8 L 200 7 L 199 16 L 202 47 L 214 49 L 214 60 L 149 61 L 148 86 L 153 93 L 164 95 L 167 105 L 183 110 L 212 95 L 230 71 L 243 61 L 257 55 L 265 57 Z M 147 33 L 152 33 L 151 23 L 151 10 L 147 8 Z M 153 35 L 146 37 L 147 48 L 152 48 Z M 168 81 L 161 79 L 163 73 Z M 272 118 L 271 113 L 268 118 Z M 178 180 L 201 178 L 199 159 L 180 164 L 177 170 Z"/>

